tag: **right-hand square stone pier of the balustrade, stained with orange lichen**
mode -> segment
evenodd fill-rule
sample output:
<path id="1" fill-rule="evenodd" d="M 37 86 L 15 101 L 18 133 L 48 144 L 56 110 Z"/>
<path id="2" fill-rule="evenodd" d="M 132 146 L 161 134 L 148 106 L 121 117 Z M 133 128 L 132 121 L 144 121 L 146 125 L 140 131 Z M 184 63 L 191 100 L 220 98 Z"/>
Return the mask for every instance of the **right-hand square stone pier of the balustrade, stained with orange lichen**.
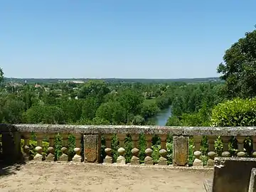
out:
<path id="1" fill-rule="evenodd" d="M 188 164 L 188 137 L 174 136 L 173 151 L 174 166 L 185 166 Z"/>

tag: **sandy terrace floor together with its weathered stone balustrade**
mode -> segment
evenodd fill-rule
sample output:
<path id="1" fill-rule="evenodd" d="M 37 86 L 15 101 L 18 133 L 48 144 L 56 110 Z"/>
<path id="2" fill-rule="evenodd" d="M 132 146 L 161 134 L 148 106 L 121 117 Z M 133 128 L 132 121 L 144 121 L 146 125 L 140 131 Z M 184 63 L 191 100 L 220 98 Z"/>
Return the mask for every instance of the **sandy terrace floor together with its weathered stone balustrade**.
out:
<path id="1" fill-rule="evenodd" d="M 223 144 L 221 156 L 230 156 L 231 137 L 238 141 L 233 154 L 238 158 L 249 156 L 244 151 L 248 137 L 256 149 L 256 127 L 1 124 L 0 130 L 0 159 L 26 162 L 11 166 L 3 163 L 1 191 L 203 191 L 203 181 L 213 177 L 217 136 Z M 56 135 L 61 135 L 61 146 Z M 75 146 L 70 145 L 70 135 L 75 138 Z M 114 142 L 114 135 L 118 142 Z M 131 138 L 131 150 L 125 145 L 127 135 Z M 146 140 L 144 159 L 139 156 L 140 135 Z M 160 156 L 154 156 L 154 135 L 159 137 Z M 170 135 L 171 151 L 167 149 Z M 207 153 L 201 148 L 204 136 Z M 131 153 L 131 159 L 127 159 L 127 153 Z M 255 155 L 253 150 L 250 154 Z"/>

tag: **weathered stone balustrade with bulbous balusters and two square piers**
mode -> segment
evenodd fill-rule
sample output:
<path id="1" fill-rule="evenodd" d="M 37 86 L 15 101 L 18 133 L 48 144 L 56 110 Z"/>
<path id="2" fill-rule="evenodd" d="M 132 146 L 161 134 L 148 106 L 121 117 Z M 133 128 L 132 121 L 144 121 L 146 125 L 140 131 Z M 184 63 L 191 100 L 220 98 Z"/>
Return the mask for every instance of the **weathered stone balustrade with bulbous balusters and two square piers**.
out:
<path id="1" fill-rule="evenodd" d="M 237 140 L 238 149 L 235 156 L 245 157 L 244 144 L 245 139 L 250 138 L 252 143 L 251 156 L 255 156 L 253 149 L 256 150 L 256 127 L 159 127 L 159 126 L 103 126 L 103 125 L 59 125 L 59 124 L 16 124 L 16 125 L 0 125 L 0 133 L 2 139 L 3 155 L 9 155 L 10 147 L 4 144 L 4 141 L 14 138 L 13 148 L 16 150 L 13 154 L 22 154 L 26 160 L 33 161 L 76 161 L 76 162 L 104 162 L 112 164 L 113 150 L 112 137 L 117 136 L 119 141 L 117 164 L 126 164 L 124 141 L 127 134 L 132 139 L 132 159 L 131 164 L 141 164 L 139 159 L 139 136 L 144 134 L 146 146 L 144 150 L 144 164 L 154 164 L 152 158 L 152 138 L 157 135 L 160 139 L 159 159 L 157 164 L 173 166 L 188 166 L 189 145 L 192 144 L 193 166 L 203 166 L 201 144 L 202 140 L 208 143 L 206 151 L 206 166 L 213 166 L 213 159 L 216 156 L 215 141 L 221 140 L 223 151 L 221 156 L 230 156 L 229 143 L 233 137 Z M 60 134 L 62 137 L 61 154 L 56 159 L 55 154 L 55 136 Z M 72 134 L 75 138 L 75 147 L 71 149 L 75 151 L 73 156 L 68 154 L 68 137 Z M 172 154 L 168 154 L 166 148 L 166 139 L 171 135 L 172 138 Z M 33 136 L 33 138 L 31 137 Z M 206 136 L 206 138 L 205 138 Z M 105 138 L 105 147 L 102 149 L 102 137 Z M 36 154 L 31 155 L 30 141 L 36 141 Z M 21 142 L 22 141 L 22 142 Z M 48 143 L 47 153 L 43 153 L 43 141 Z M 22 145 L 22 146 L 21 146 Z M 19 151 L 21 149 L 21 151 Z M 102 151 L 105 151 L 104 156 Z M 172 162 L 168 161 L 168 155 L 172 156 Z M 234 155 L 234 154 L 233 154 Z M 191 164 L 191 165 L 192 165 Z"/>

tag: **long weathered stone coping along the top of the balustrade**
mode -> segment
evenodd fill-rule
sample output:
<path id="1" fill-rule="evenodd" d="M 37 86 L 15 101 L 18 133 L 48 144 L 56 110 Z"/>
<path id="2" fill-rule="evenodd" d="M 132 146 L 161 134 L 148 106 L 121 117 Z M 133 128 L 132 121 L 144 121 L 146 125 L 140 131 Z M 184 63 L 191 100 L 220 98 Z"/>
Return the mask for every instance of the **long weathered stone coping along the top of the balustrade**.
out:
<path id="1" fill-rule="evenodd" d="M 8 125 L 9 126 L 9 125 Z M 6 128 L 6 124 L 0 124 Z M 81 134 L 171 134 L 186 136 L 250 136 L 256 135 L 256 127 L 168 127 L 137 125 L 71 125 L 71 124 L 15 124 L 20 132 L 81 133 Z"/>

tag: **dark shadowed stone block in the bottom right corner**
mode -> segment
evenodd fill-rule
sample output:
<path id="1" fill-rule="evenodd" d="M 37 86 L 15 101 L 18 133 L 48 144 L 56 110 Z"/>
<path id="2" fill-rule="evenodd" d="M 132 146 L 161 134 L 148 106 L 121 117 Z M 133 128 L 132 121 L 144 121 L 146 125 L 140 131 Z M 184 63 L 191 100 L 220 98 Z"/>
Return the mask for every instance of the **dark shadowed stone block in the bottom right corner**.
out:
<path id="1" fill-rule="evenodd" d="M 213 176 L 213 192 L 248 191 L 254 158 L 216 157 Z"/>

